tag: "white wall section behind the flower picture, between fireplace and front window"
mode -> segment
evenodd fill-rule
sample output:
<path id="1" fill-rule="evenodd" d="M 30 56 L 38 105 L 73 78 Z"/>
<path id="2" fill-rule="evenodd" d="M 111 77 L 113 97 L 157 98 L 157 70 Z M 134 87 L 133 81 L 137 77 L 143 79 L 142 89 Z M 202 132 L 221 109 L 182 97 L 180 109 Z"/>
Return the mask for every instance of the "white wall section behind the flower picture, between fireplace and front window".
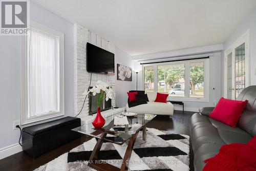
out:
<path id="1" fill-rule="evenodd" d="M 127 103 L 127 92 L 129 90 L 136 90 L 136 73 L 134 72 L 137 69 L 135 62 L 132 60 L 132 56 L 127 54 L 126 52 L 116 48 L 115 53 L 115 76 L 117 79 L 117 63 L 131 67 L 133 69 L 132 73 L 132 81 L 120 81 L 116 80 L 116 106 L 122 108 Z M 138 77 L 138 89 L 140 87 Z"/>

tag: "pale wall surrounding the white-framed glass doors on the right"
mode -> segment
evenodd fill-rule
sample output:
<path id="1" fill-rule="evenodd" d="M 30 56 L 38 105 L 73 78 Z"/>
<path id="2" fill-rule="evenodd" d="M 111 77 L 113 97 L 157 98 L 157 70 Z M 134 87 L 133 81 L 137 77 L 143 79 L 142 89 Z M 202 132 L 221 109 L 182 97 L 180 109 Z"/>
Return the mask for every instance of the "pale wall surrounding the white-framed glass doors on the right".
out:
<path id="1" fill-rule="evenodd" d="M 246 30 L 249 29 L 249 46 L 250 46 L 250 83 L 251 85 L 256 85 L 256 7 L 251 10 L 248 16 L 243 20 L 239 27 L 233 31 L 229 38 L 224 43 L 224 50 L 222 53 L 221 60 L 221 75 L 222 75 L 222 95 L 224 96 L 224 67 L 225 67 L 225 50 L 233 44 Z"/>

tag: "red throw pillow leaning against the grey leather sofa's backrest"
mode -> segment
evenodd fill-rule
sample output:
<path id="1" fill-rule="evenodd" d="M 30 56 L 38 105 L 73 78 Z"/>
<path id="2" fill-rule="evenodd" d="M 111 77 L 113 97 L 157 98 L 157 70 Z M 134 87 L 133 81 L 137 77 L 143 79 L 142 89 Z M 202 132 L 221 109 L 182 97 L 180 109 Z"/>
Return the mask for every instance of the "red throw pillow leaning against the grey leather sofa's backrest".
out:
<path id="1" fill-rule="evenodd" d="M 222 97 L 209 117 L 226 123 L 229 126 L 236 127 L 247 102 L 248 100 L 229 100 Z"/>

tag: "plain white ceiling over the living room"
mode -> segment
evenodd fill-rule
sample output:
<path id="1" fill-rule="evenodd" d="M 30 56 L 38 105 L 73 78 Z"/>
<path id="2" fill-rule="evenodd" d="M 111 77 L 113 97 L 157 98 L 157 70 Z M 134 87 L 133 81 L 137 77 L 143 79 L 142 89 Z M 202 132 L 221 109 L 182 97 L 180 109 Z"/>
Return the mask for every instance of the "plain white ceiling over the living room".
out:
<path id="1" fill-rule="evenodd" d="M 223 43 L 256 0 L 32 0 L 131 55 Z"/>

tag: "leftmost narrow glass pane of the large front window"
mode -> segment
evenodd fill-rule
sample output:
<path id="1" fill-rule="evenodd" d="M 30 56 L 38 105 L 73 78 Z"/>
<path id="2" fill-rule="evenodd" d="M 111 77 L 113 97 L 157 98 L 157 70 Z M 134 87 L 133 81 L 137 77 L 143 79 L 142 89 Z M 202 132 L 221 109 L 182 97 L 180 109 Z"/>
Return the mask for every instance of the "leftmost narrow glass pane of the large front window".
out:
<path id="1" fill-rule="evenodd" d="M 144 89 L 145 91 L 154 91 L 154 66 L 144 68 Z"/>

